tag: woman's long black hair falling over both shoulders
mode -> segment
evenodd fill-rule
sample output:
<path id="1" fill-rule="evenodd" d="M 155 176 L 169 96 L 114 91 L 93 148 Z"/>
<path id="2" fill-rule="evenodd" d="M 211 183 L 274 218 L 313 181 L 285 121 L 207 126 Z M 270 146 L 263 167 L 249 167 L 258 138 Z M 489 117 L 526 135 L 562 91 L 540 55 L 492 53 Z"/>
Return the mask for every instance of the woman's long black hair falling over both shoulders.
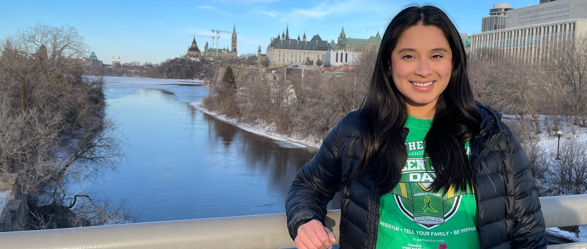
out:
<path id="1" fill-rule="evenodd" d="M 432 127 L 424 138 L 425 152 L 436 172 L 431 187 L 436 192 L 451 186 L 465 190 L 467 185 L 474 186 L 476 170 L 467 158 L 464 144 L 478 134 L 481 115 L 469 84 L 461 37 L 446 13 L 435 6 L 403 9 L 385 30 L 369 90 L 359 110 L 362 156 L 349 181 L 369 174 L 382 193 L 387 193 L 400 180 L 407 159 L 402 136 L 407 110 L 402 94 L 393 83 L 387 60 L 400 35 L 416 25 L 442 30 L 453 52 L 450 81 L 438 97 Z"/>

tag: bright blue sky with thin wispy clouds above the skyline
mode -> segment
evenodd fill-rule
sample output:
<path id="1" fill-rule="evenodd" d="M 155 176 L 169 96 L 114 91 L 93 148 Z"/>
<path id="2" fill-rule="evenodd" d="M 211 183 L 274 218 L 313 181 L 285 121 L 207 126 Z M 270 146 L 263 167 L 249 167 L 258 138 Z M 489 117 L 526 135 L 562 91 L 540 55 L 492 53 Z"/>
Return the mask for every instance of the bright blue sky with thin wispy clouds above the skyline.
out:
<path id="1" fill-rule="evenodd" d="M 110 63 L 113 54 L 124 62 L 159 63 L 185 54 L 193 37 L 212 35 L 211 29 L 238 32 L 239 54 L 262 52 L 271 37 L 289 25 L 289 35 L 336 39 L 345 27 L 347 37 L 365 38 L 385 28 L 402 6 L 412 3 L 440 6 L 460 32 L 480 32 L 481 18 L 493 4 L 487 0 L 208 0 L 208 1 L 4 1 L 0 8 L 0 38 L 36 22 L 77 28 L 98 59 Z M 514 8 L 538 0 L 508 1 Z M 221 33 L 220 47 L 230 47 L 230 34 Z M 211 43 L 196 37 L 198 47 Z"/>

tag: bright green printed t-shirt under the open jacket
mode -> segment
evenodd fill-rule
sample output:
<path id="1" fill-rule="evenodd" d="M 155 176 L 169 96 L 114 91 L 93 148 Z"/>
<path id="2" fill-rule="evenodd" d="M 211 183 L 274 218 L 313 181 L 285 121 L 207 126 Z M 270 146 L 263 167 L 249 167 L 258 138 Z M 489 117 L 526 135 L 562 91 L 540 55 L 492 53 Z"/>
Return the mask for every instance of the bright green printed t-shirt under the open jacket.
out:
<path id="1" fill-rule="evenodd" d="M 431 192 L 435 174 L 424 154 L 432 120 L 408 116 L 408 158 L 400 182 L 381 196 L 376 249 L 479 248 L 477 202 L 471 188 Z M 469 142 L 465 144 L 470 155 Z"/>

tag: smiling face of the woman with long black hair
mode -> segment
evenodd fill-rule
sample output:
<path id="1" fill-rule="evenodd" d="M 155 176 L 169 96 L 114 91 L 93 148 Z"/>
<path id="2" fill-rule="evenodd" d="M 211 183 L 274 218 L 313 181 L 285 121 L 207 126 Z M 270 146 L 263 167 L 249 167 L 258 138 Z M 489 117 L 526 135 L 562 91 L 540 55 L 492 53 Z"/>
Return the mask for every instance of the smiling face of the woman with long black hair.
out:
<path id="1" fill-rule="evenodd" d="M 393 83 L 406 104 L 435 105 L 453 69 L 453 53 L 443 32 L 436 26 L 417 25 L 406 29 L 389 61 Z"/>

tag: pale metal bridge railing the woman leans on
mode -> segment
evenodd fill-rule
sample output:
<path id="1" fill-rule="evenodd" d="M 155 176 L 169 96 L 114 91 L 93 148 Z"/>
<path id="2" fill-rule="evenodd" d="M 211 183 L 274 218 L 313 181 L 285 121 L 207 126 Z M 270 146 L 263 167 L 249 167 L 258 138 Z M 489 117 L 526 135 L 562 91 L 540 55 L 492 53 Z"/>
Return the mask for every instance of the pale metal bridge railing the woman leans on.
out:
<path id="1" fill-rule="evenodd" d="M 587 224 L 587 195 L 541 197 L 546 227 Z M 340 210 L 329 210 L 326 226 L 339 236 Z M 0 248 L 11 249 L 276 249 L 295 247 L 285 214 L 0 233 Z M 549 245 L 549 249 L 587 248 L 587 242 Z"/>

